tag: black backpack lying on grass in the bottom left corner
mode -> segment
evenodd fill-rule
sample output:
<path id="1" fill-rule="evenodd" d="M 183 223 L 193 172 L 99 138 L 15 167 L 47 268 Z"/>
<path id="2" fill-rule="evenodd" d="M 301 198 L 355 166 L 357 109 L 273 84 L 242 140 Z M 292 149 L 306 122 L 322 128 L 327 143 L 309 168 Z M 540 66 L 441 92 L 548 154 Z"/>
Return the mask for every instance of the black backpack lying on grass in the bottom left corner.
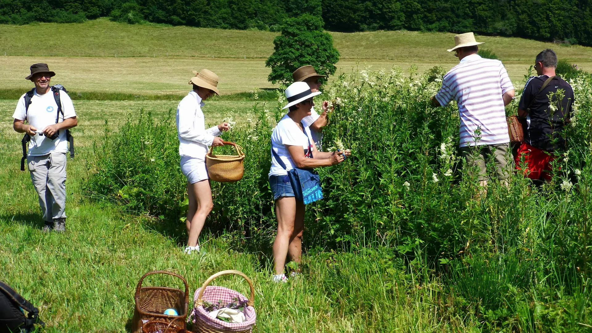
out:
<path id="1" fill-rule="evenodd" d="M 28 312 L 27 316 L 23 310 Z M 31 332 L 34 324 L 45 326 L 39 319 L 39 309 L 0 281 L 0 333 Z"/>

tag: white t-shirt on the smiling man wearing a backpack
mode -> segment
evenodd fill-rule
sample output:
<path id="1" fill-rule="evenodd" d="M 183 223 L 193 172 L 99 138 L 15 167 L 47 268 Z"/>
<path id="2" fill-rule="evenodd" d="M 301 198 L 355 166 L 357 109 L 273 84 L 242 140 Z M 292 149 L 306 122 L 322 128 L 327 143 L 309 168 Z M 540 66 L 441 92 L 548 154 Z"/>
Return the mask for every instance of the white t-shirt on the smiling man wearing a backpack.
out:
<path id="1" fill-rule="evenodd" d="M 60 113 L 58 123 L 61 123 L 64 119 L 76 117 L 72 100 L 65 91 L 60 90 L 60 101 L 62 102 L 63 115 Z M 17 108 L 14 110 L 12 118 L 27 120 L 27 123 L 34 126 L 38 132 L 43 132 L 45 127 L 56 123 L 56 116 L 56 100 L 53 97 L 52 89 L 49 89 L 43 95 L 37 94 L 37 91 L 34 92 L 28 111 L 25 110 L 25 94 L 23 94 L 20 100 L 18 100 Z M 28 156 L 66 153 L 67 151 L 66 130 L 60 130 L 60 135 L 55 140 L 40 135 L 31 137 Z"/>

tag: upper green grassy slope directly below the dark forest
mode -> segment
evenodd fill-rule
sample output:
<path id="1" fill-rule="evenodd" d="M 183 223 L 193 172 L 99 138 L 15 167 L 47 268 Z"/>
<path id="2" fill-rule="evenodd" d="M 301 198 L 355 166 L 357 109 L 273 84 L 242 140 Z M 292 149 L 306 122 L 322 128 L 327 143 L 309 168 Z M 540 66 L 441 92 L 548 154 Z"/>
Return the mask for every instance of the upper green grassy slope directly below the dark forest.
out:
<path id="1" fill-rule="evenodd" d="M 85 23 L 36 23 L 0 25 L 0 55 L 90 56 L 90 57 L 223 57 L 267 58 L 274 52 L 272 41 L 279 33 L 257 30 L 221 30 L 172 27 L 162 24 L 130 25 L 107 18 Z M 448 59 L 452 33 L 417 31 L 372 31 L 331 33 L 343 60 Z M 540 50 L 551 47 L 561 59 L 592 60 L 592 49 L 562 46 L 516 37 L 478 36 L 484 47 L 502 60 L 532 62 Z"/>

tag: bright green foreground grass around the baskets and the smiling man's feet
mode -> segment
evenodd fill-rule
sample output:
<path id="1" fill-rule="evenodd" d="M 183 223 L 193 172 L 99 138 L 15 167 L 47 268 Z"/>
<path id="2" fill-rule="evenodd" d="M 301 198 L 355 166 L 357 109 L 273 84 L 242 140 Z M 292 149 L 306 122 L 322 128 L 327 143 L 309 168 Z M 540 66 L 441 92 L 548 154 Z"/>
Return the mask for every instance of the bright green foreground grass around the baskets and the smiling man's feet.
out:
<path id="1" fill-rule="evenodd" d="M 243 271 L 255 283 L 255 332 L 452 332 L 478 324 L 471 313 L 466 318 L 451 314 L 451 300 L 437 280 L 426 277 L 427 286 L 417 286 L 416 277 L 384 251 L 309 251 L 304 276 L 288 284 L 269 281 L 269 252 L 236 248 L 224 235 L 213 238 L 206 231 L 201 238 L 205 252 L 185 256 L 178 244 L 184 238 L 181 223 L 162 226 L 152 217 L 129 215 L 82 196 L 88 159 L 93 143 L 102 140 L 105 121 L 117 130 L 126 112 L 137 117 L 143 107 L 159 117 L 176 103 L 74 103 L 81 121 L 73 130 L 77 155 L 67 165 L 68 231 L 63 235 L 41 233 L 36 193 L 28 172 L 18 170 L 21 135 L 12 130 L 11 115 L 0 118 L 0 276 L 40 308 L 46 332 L 129 331 L 133 293 L 142 274 L 174 271 L 188 280 L 193 293 L 208 276 L 230 268 Z M 220 120 L 227 111 L 225 103 L 209 102 L 206 118 Z M 4 110 L 15 104 L 0 101 Z M 173 278 L 159 277 L 147 278 L 144 285 L 160 284 L 181 286 Z M 248 291 L 240 278 L 220 278 L 213 284 Z"/>

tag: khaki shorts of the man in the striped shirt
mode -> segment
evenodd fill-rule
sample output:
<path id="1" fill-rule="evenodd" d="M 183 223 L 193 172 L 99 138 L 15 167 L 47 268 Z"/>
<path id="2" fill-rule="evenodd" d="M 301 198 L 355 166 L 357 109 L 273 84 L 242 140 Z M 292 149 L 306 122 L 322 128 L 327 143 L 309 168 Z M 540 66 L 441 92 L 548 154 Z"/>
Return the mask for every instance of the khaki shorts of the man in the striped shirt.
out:
<path id="1" fill-rule="evenodd" d="M 465 158 L 472 175 L 475 166 L 478 167 L 477 180 L 487 180 L 487 163 L 493 161 L 496 164 L 495 175 L 499 180 L 507 180 L 514 169 L 514 159 L 510 151 L 510 143 L 498 143 L 497 145 L 464 146 L 461 147 L 461 155 Z"/>

